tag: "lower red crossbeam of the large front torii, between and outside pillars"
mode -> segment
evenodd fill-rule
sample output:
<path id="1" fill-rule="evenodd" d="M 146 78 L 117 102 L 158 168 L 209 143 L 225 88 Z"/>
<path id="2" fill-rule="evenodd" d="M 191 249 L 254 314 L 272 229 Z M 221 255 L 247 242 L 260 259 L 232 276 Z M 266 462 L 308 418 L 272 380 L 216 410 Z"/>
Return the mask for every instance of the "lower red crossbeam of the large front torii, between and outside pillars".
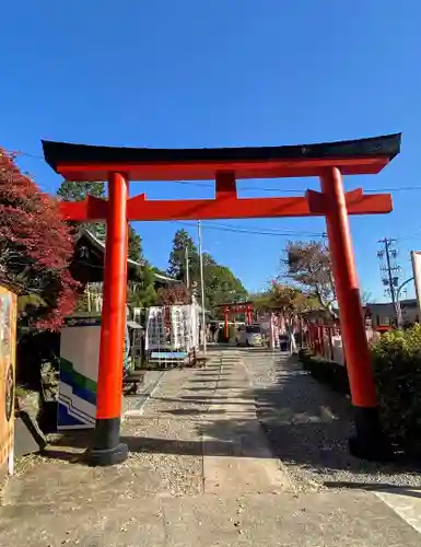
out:
<path id="1" fill-rule="evenodd" d="M 379 214 L 391 211 L 389 194 L 365 196 L 361 188 L 346 194 L 349 214 Z M 67 220 L 106 220 L 108 202 L 90 196 L 85 201 L 60 202 Z M 237 198 L 235 190 L 217 188 L 215 199 L 148 200 L 144 194 L 128 199 L 127 220 L 210 220 L 279 217 L 320 217 L 329 212 L 328 198 L 307 190 L 303 197 Z"/>

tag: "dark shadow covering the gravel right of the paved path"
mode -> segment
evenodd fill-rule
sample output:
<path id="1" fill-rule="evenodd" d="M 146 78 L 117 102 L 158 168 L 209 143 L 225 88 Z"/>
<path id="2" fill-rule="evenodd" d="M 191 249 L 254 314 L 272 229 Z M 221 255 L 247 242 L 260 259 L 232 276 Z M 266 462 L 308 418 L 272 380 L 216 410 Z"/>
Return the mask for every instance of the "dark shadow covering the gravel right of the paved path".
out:
<path id="1" fill-rule="evenodd" d="M 253 395 L 258 419 L 278 457 L 316 476 L 337 475 L 330 487 L 341 488 L 342 472 L 362 479 L 370 475 L 373 488 L 378 474 L 419 474 L 420 466 L 413 462 L 384 464 L 353 457 L 348 450 L 353 433 L 350 399 L 316 382 L 295 358 L 278 359 L 272 385 L 255 388 Z M 355 488 L 365 488 L 364 484 L 358 481 Z"/>

